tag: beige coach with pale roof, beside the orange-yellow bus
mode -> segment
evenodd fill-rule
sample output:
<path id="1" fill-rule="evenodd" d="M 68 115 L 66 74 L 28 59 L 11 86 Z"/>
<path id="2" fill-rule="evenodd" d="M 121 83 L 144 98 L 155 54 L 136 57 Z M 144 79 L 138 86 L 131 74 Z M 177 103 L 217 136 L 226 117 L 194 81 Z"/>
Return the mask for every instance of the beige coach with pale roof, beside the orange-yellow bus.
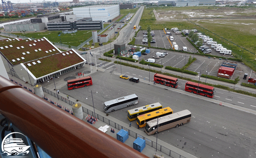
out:
<path id="1" fill-rule="evenodd" d="M 189 110 L 183 110 L 167 116 L 163 116 L 147 122 L 145 132 L 147 135 L 156 134 L 163 130 L 168 130 L 173 127 L 179 127 L 185 123 L 189 123 L 191 119 L 191 112 Z M 158 127 L 158 128 L 157 128 Z"/>

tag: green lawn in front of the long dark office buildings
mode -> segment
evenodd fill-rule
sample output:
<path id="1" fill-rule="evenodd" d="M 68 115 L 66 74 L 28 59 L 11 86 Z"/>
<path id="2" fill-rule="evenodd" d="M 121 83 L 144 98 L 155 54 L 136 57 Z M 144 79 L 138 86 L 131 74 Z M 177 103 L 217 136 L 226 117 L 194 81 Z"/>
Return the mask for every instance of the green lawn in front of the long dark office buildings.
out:
<path id="1" fill-rule="evenodd" d="M 97 30 L 98 31 L 98 30 Z M 63 43 L 70 46 L 79 46 L 82 42 L 86 41 L 88 38 L 92 36 L 91 30 L 79 30 L 77 33 L 71 33 L 71 34 L 63 34 L 61 33 L 61 36 L 58 37 L 58 33 L 61 33 L 61 31 L 46 31 L 41 33 L 13 33 L 15 35 L 21 35 L 26 37 L 32 37 L 32 38 L 42 38 L 46 37 L 51 42 L 57 42 L 57 43 Z M 61 41 L 60 41 L 61 40 Z"/>

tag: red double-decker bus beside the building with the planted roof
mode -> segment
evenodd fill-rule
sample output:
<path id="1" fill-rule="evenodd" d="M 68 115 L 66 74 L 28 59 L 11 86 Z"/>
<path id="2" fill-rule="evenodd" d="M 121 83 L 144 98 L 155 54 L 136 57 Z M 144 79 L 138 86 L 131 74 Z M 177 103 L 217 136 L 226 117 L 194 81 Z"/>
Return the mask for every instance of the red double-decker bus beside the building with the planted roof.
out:
<path id="1" fill-rule="evenodd" d="M 91 76 L 81 77 L 78 79 L 70 79 L 67 81 L 68 90 L 91 85 L 93 85 L 93 82 L 91 81 Z"/>

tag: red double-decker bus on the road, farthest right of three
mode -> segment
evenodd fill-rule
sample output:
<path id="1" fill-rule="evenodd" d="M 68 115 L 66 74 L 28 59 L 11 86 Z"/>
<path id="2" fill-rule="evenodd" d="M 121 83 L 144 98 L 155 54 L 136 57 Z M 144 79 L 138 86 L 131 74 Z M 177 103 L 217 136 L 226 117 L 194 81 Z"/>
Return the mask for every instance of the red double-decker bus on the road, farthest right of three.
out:
<path id="1" fill-rule="evenodd" d="M 197 91 L 198 90 L 198 91 Z M 185 85 L 185 91 L 191 93 L 198 93 L 199 95 L 204 95 L 205 97 L 212 98 L 214 96 L 214 87 L 207 86 L 204 84 L 199 84 L 191 81 L 187 81 Z"/>

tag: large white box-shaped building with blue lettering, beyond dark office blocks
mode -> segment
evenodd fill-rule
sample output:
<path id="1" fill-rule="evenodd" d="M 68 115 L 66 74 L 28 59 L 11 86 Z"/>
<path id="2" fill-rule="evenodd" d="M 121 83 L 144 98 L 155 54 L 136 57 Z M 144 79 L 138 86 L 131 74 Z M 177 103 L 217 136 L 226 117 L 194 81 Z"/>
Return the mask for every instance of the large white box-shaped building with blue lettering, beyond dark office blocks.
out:
<path id="1" fill-rule="evenodd" d="M 73 8 L 73 12 L 77 15 L 77 19 L 91 17 L 93 21 L 108 22 L 119 16 L 120 9 L 119 5 L 93 5 Z"/>

